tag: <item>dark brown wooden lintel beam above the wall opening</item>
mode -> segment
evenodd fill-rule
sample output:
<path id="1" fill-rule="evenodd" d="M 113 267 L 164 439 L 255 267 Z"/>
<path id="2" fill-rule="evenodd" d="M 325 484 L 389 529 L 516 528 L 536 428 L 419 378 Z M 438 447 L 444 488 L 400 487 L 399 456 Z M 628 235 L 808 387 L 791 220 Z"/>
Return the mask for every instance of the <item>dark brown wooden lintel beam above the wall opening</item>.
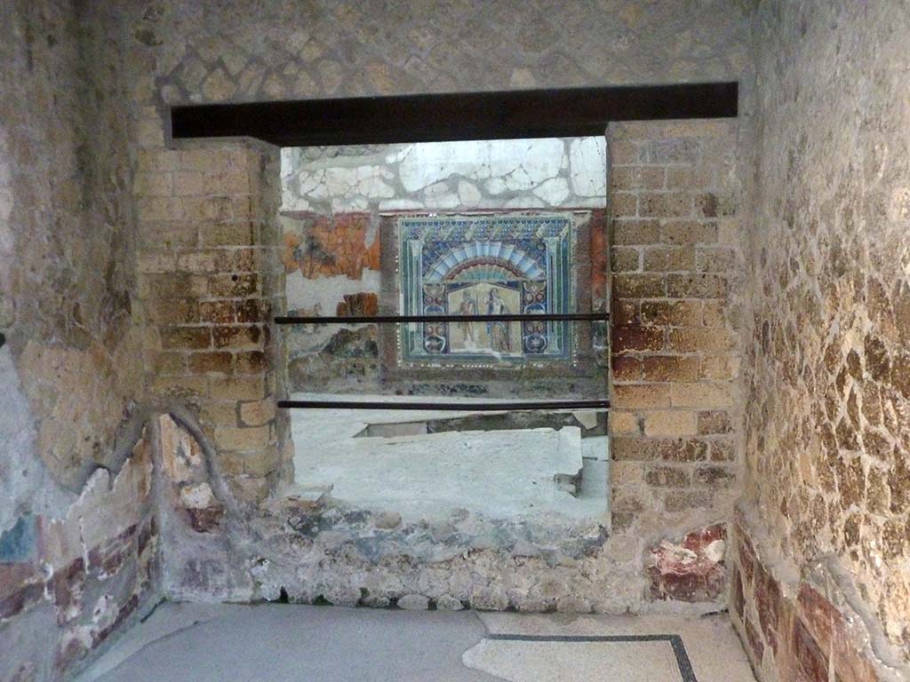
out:
<path id="1" fill-rule="evenodd" d="M 171 109 L 171 133 L 281 146 L 603 135 L 611 121 L 733 117 L 738 90 L 726 82 L 187 105 Z"/>

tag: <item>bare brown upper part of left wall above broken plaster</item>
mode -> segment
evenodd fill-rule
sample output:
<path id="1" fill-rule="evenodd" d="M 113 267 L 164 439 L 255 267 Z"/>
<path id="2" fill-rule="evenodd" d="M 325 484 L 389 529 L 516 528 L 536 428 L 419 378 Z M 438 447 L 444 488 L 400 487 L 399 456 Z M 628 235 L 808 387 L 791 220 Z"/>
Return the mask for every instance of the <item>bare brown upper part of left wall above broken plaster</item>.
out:
<path id="1" fill-rule="evenodd" d="M 35 455 L 77 492 L 93 466 L 110 463 L 140 386 L 127 361 L 139 337 L 128 116 L 114 104 L 120 45 L 94 54 L 108 19 L 86 24 L 69 3 L 3 12 L 0 332 L 31 407 Z"/>

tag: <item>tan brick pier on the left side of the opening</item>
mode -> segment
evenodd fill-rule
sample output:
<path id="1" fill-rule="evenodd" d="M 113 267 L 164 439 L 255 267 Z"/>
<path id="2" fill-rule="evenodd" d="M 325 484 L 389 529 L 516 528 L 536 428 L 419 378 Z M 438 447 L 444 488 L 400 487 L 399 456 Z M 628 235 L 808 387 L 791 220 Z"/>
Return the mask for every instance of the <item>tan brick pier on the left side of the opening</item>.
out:
<path id="1" fill-rule="evenodd" d="M 262 499 L 291 466 L 276 409 L 281 336 L 269 324 L 284 310 L 278 150 L 168 150 L 160 127 L 147 131 L 136 174 L 147 390 L 190 406 L 235 493 Z"/>

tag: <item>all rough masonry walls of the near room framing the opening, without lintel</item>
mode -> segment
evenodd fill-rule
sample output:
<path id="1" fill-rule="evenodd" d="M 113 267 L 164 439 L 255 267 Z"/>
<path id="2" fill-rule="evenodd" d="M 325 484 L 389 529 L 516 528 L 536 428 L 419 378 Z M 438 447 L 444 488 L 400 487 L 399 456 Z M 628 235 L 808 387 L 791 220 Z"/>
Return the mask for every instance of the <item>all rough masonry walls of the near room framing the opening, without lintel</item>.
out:
<path id="1" fill-rule="evenodd" d="M 910 677 L 905 3 L 379 5 L 0 4 L 0 680 L 163 597 L 726 606 L 763 682 Z M 612 518 L 282 496 L 278 150 L 169 105 L 718 80 L 607 133 Z"/>

